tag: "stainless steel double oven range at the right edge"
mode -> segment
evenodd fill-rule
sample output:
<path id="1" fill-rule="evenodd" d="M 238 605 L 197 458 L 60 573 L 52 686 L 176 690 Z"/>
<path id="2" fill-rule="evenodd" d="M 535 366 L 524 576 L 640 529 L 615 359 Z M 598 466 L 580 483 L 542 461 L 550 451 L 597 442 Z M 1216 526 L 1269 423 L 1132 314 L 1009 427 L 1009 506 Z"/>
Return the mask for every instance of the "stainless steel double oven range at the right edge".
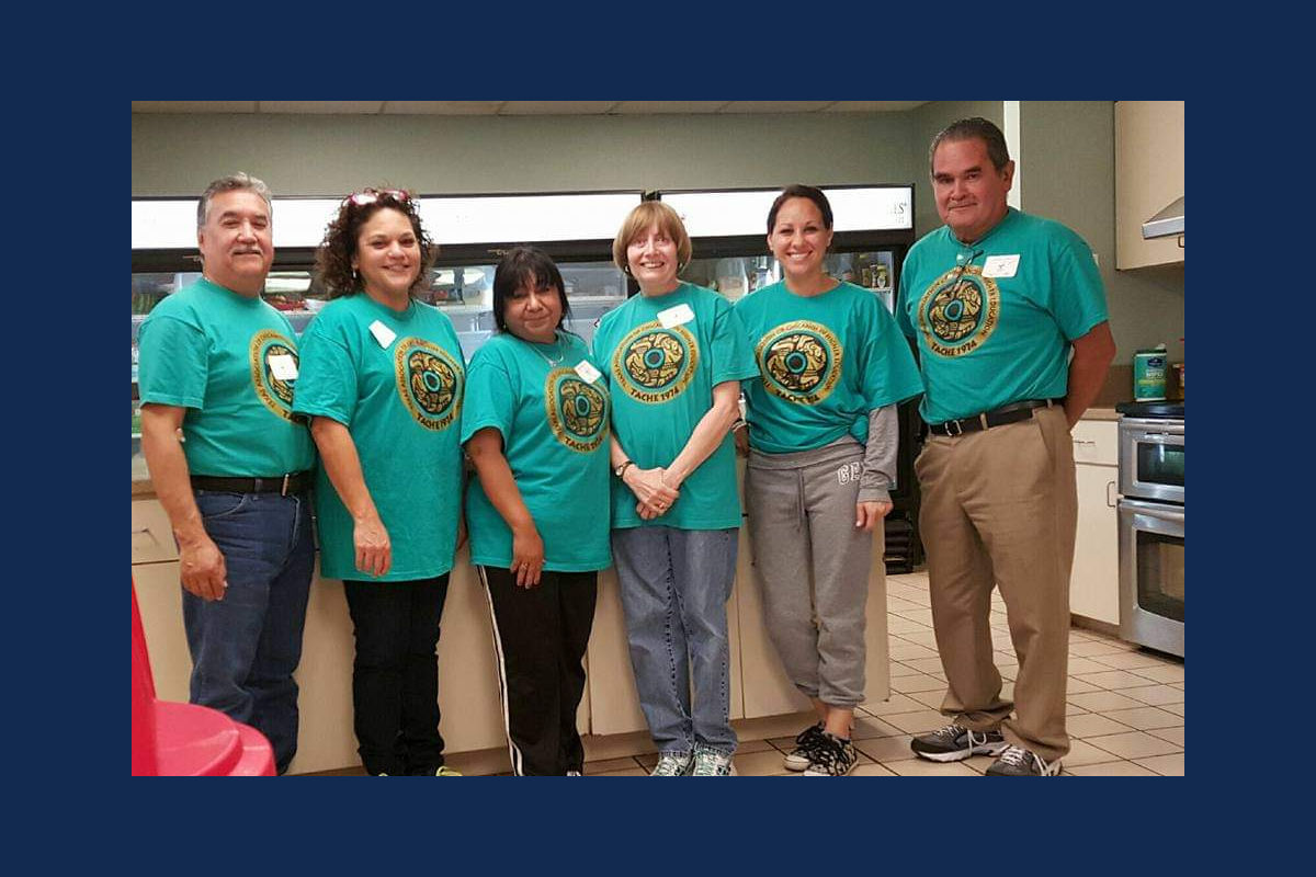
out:
<path id="1" fill-rule="evenodd" d="M 1120 635 L 1183 657 L 1183 402 L 1120 417 Z"/>

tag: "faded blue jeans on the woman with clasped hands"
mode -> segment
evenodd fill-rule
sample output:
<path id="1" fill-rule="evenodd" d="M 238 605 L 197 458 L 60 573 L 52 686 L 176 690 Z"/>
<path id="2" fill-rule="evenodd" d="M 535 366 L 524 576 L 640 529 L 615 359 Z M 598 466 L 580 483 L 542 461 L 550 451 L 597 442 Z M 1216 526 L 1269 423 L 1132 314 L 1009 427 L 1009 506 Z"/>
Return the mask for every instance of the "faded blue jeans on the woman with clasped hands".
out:
<path id="1" fill-rule="evenodd" d="M 612 531 L 630 667 L 659 752 L 691 752 L 696 746 L 736 751 L 726 601 L 736 580 L 738 533 Z"/>

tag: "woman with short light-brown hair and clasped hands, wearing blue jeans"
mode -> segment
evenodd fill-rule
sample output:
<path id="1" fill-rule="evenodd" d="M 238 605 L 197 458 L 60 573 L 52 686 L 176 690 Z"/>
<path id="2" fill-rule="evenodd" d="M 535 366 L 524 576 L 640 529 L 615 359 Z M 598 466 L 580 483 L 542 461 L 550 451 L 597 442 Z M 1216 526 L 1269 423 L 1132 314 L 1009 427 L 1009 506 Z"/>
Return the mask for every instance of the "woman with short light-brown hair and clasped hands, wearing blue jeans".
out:
<path id="1" fill-rule="evenodd" d="M 730 640 L 741 504 L 732 423 L 757 375 L 730 302 L 683 283 L 690 235 L 661 201 L 612 242 L 638 296 L 594 335 L 613 389 L 612 552 L 651 776 L 730 776 Z M 687 681 L 688 680 L 688 681 Z"/>

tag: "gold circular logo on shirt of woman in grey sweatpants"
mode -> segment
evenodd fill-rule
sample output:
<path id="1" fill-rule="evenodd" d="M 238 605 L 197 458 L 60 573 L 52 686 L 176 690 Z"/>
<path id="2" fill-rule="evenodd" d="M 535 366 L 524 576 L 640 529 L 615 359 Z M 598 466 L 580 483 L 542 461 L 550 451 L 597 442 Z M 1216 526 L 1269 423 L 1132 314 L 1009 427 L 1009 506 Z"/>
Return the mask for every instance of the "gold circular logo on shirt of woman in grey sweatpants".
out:
<path id="1" fill-rule="evenodd" d="M 767 392 L 797 405 L 817 405 L 841 380 L 841 342 L 809 320 L 770 329 L 759 338 L 754 358 Z"/>

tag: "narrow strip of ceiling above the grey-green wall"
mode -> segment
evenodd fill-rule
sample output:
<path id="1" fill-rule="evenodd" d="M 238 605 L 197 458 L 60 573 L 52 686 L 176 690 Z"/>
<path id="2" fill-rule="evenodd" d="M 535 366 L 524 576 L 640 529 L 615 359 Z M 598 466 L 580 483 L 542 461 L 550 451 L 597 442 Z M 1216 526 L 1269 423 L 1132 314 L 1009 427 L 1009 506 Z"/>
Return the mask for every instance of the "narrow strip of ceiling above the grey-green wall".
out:
<path id="1" fill-rule="evenodd" d="M 880 113 L 925 100 L 134 100 L 134 113 L 346 113 L 353 116 L 655 116 L 670 113 Z"/>

